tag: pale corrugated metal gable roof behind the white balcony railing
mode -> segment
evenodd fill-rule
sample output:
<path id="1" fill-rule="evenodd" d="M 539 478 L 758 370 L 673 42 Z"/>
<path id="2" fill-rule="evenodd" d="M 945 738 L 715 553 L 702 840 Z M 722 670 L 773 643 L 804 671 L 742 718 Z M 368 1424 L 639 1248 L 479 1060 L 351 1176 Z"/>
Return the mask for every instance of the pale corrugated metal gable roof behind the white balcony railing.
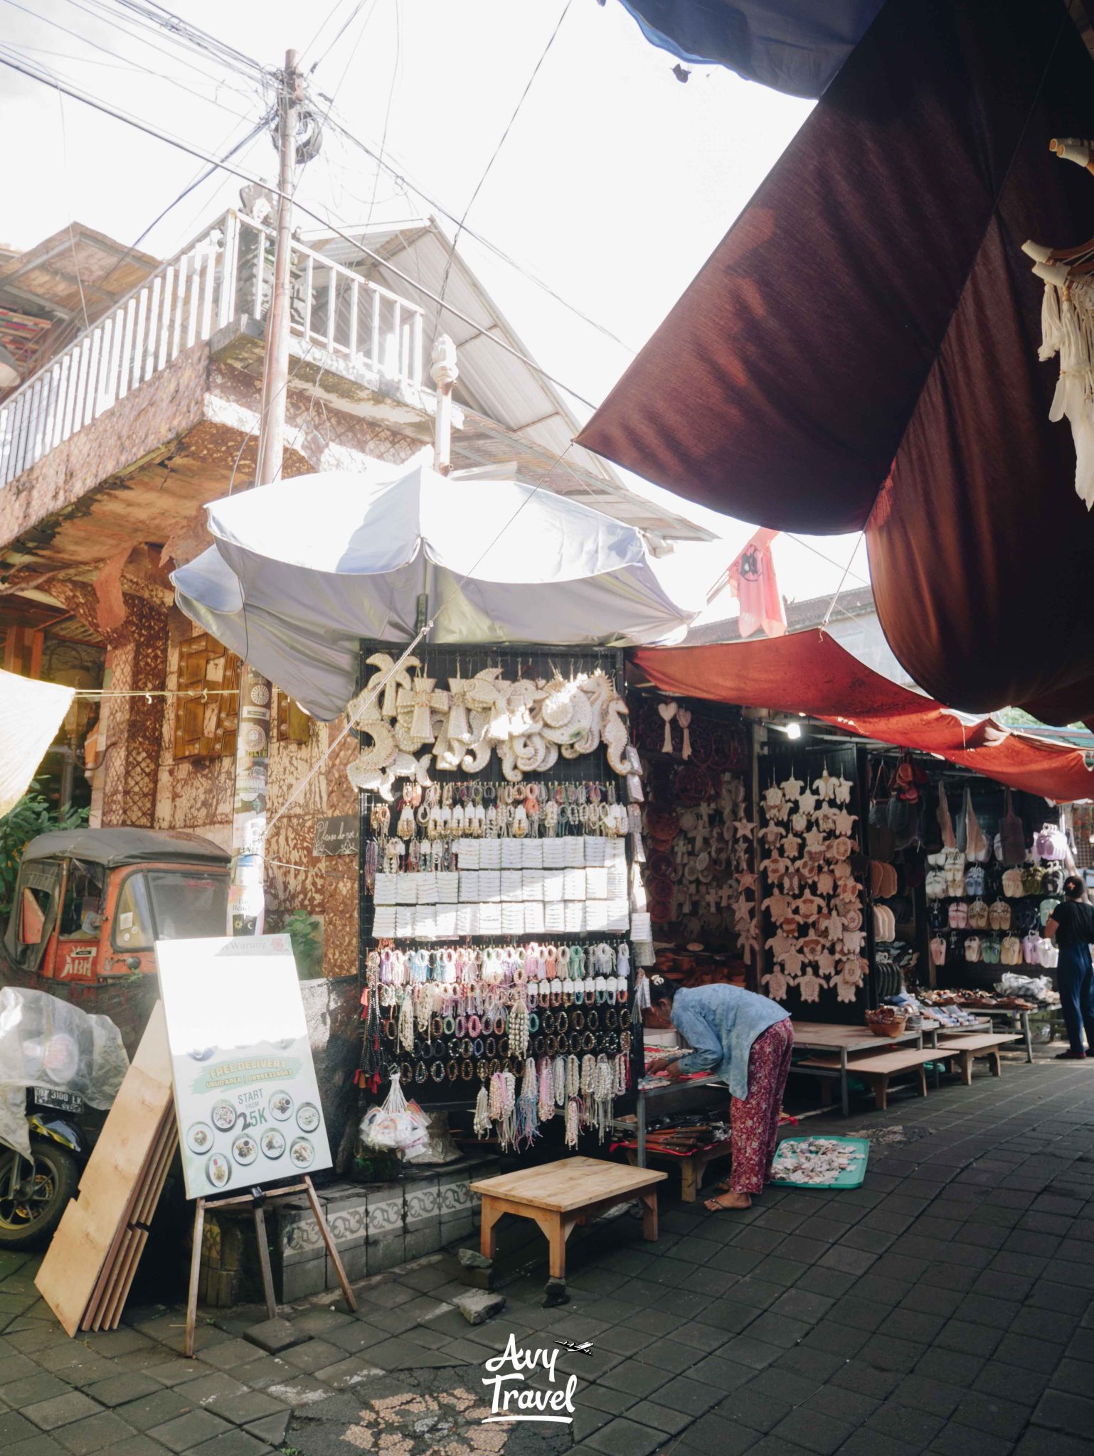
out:
<path id="1" fill-rule="evenodd" d="M 361 259 L 341 237 L 319 233 L 306 240 L 335 262 L 355 268 L 417 303 L 425 313 L 427 341 L 434 332 L 443 332 L 456 344 L 460 377 L 454 397 L 465 409 L 465 428 L 453 444 L 459 446 L 460 456 L 484 466 L 516 460 L 522 475 L 530 473 L 532 479 L 538 479 L 570 446 L 580 421 L 554 384 L 491 344 L 488 335 L 495 335 L 510 348 L 532 357 L 459 252 L 452 255 L 452 245 L 438 223 L 434 218 L 409 218 L 367 229 L 347 227 L 345 232 L 395 264 L 405 277 L 371 259 Z M 443 310 L 438 329 L 437 304 L 406 282 L 406 278 L 417 280 L 421 288 L 440 294 L 450 255 L 453 261 L 443 296 L 459 313 L 481 322 L 478 329 L 447 310 Z M 607 462 L 578 446 L 552 472 L 549 488 L 669 540 L 714 540 L 705 527 L 638 495 Z"/>

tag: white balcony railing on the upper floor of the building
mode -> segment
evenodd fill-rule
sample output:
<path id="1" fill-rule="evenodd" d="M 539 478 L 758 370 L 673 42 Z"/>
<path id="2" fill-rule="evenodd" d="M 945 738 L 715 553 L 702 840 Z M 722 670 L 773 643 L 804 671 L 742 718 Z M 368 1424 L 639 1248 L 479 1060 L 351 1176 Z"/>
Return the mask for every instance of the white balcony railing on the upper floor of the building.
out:
<path id="1" fill-rule="evenodd" d="M 233 319 L 264 319 L 274 233 L 227 213 L 144 280 L 0 405 L 0 486 Z M 422 312 L 300 243 L 291 253 L 291 333 L 420 386 Z"/>

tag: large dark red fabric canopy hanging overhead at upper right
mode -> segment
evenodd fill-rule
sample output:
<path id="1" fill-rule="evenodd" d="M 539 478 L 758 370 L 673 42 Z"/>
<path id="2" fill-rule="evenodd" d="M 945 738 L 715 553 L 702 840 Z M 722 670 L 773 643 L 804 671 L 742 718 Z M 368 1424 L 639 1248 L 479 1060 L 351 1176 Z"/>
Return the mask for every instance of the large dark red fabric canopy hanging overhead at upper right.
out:
<path id="1" fill-rule="evenodd" d="M 580 443 L 743 520 L 865 527 L 918 683 L 1066 722 L 1094 521 L 1021 243 L 1090 237 L 1094 178 L 1056 135 L 1094 135 L 1059 0 L 889 0 Z"/>

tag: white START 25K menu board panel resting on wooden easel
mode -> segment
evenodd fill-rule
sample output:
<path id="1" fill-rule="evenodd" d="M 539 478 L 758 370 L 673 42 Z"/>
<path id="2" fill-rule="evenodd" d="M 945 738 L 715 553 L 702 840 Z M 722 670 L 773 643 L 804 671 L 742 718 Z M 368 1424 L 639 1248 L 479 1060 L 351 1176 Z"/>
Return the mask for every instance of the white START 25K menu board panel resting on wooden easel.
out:
<path id="1" fill-rule="evenodd" d="M 331 1166 L 287 935 L 157 941 L 188 1198 Z"/>

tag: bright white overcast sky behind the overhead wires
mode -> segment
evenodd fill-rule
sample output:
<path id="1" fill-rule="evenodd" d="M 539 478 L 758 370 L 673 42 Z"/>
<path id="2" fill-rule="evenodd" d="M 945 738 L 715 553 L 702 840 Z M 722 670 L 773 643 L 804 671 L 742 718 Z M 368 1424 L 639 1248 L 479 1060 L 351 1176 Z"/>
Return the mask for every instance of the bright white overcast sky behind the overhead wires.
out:
<path id="1" fill-rule="evenodd" d="M 532 357 L 591 402 L 605 397 L 688 287 L 811 105 L 718 67 L 696 67 L 682 84 L 672 57 L 648 45 L 618 0 L 322 0 L 307 7 L 175 0 L 173 9 L 271 70 L 296 48 L 313 100 L 323 111 L 332 100 L 348 131 L 383 149 L 405 183 L 325 130 L 297 195 L 335 224 L 425 215 L 430 207 L 415 186 L 459 217 L 482 183 L 468 226 L 524 271 L 466 234 L 460 250 Z M 0 0 L 0 55 L 45 66 L 216 154 L 262 114 L 261 83 L 144 28 L 124 0 Z M 133 243 L 204 170 L 194 157 L 10 70 L 0 71 L 0 122 L 9 138 L 0 237 L 13 246 L 31 246 L 73 218 Z M 236 160 L 275 176 L 267 134 Z M 239 186 L 229 176 L 202 183 L 141 246 L 173 253 L 237 202 Z M 580 419 L 589 414 L 580 405 L 574 411 Z M 746 523 L 628 479 L 720 537 L 679 547 L 666 562 L 670 585 L 674 578 L 712 584 L 752 533 Z M 775 566 L 782 593 L 797 600 L 835 593 L 841 581 L 868 581 L 854 536 L 779 537 Z M 708 616 L 733 610 L 723 594 Z"/>

